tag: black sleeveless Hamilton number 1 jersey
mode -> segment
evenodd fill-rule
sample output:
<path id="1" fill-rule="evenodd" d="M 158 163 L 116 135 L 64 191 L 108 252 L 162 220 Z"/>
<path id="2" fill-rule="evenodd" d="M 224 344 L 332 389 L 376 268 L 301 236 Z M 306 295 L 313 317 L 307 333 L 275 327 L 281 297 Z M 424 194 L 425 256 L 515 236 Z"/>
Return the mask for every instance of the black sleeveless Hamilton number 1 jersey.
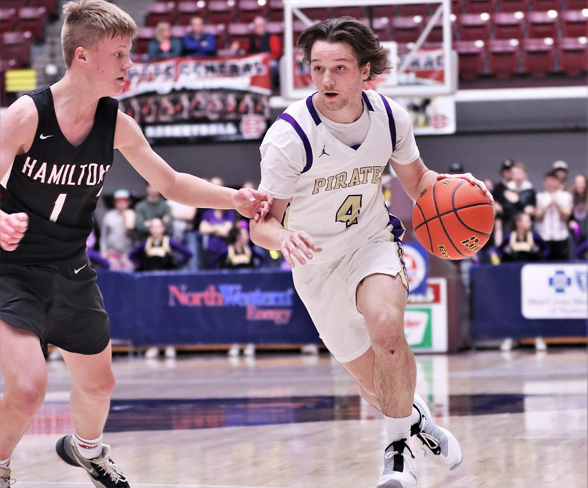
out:
<path id="1" fill-rule="evenodd" d="M 4 263 L 43 264 L 82 253 L 114 155 L 115 99 L 99 100 L 91 131 L 72 146 L 59 129 L 51 89 L 28 95 L 39 123 L 31 149 L 15 157 L 0 181 L 0 208 L 28 214 L 29 226 L 16 250 L 0 249 Z"/>

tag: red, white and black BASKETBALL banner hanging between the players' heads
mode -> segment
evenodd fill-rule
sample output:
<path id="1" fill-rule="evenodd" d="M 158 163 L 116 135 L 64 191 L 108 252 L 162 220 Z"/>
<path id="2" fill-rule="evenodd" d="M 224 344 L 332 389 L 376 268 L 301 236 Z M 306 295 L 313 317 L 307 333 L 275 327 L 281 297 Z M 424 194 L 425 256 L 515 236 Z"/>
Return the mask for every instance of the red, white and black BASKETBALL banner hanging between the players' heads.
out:
<path id="1" fill-rule="evenodd" d="M 269 57 L 135 63 L 119 105 L 150 143 L 261 139 L 270 117 Z"/>

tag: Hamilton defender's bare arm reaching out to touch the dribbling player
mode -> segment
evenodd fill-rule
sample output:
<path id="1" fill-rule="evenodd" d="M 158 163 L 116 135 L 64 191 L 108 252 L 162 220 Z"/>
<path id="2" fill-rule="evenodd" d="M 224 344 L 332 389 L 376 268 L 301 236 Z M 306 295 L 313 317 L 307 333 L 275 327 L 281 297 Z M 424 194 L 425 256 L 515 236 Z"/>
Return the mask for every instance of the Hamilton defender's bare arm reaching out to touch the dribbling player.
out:
<path id="1" fill-rule="evenodd" d="M 169 166 L 143 136 L 141 128 L 128 115 L 118 112 L 115 149 L 165 198 L 191 207 L 235 208 L 241 215 L 259 220 L 265 217 L 272 196 L 258 190 L 220 187 Z"/>

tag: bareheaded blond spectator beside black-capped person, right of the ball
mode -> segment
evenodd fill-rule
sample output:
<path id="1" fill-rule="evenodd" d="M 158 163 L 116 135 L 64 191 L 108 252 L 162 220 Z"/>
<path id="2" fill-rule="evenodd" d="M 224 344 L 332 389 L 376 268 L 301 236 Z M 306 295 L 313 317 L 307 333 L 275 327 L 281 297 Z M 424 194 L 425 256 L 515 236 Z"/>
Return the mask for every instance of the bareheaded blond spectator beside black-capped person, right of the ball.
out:
<path id="1" fill-rule="evenodd" d="M 510 170 L 512 180 L 506 185 L 503 193 L 502 205 L 502 229 L 506 235 L 513 228 L 516 214 L 523 212 L 533 217 L 537 194 L 531 182 L 527 179 L 527 171 L 523 163 L 515 163 Z"/>

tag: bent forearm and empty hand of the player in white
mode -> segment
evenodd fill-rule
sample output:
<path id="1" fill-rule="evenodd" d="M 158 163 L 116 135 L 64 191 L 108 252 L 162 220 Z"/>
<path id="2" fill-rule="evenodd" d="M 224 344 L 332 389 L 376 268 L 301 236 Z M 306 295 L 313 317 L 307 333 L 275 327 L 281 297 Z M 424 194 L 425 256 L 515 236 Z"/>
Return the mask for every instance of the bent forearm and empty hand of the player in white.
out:
<path id="1" fill-rule="evenodd" d="M 322 248 L 305 231 L 292 232 L 280 224 L 287 206 L 288 200 L 274 200 L 268 215 L 252 222 L 249 231 L 253 243 L 266 249 L 280 250 L 290 268 L 293 268 L 296 261 L 306 264 L 307 260 L 312 259 L 313 253 L 320 253 Z"/>

